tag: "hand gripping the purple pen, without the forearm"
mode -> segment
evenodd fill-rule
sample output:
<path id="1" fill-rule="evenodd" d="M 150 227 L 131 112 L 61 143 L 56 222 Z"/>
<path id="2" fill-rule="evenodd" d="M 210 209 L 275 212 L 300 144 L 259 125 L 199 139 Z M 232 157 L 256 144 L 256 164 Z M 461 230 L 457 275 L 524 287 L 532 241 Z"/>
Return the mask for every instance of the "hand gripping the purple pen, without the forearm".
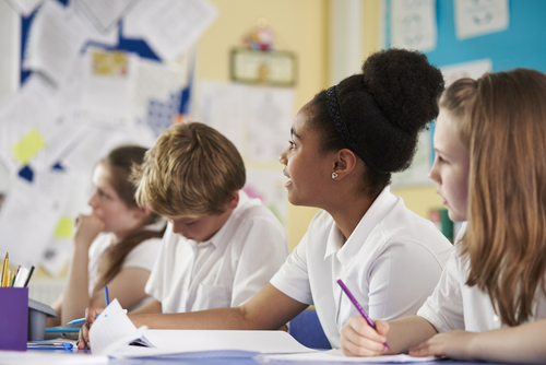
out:
<path id="1" fill-rule="evenodd" d="M 377 330 L 371 328 L 361 316 L 351 317 L 341 330 L 341 346 L 347 356 L 377 356 L 384 354 L 388 349 L 387 332 L 389 323 L 377 320 Z"/>

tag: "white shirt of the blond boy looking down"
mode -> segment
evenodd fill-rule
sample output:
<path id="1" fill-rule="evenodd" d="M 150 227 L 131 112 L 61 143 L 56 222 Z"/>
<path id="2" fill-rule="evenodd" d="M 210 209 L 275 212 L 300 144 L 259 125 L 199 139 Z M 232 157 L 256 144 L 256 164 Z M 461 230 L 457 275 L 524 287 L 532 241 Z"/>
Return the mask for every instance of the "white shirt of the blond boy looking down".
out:
<path id="1" fill-rule="evenodd" d="M 187 239 L 168 224 L 145 290 L 163 313 L 235 307 L 264 287 L 287 256 L 281 223 L 239 191 L 239 204 L 207 242 Z"/>

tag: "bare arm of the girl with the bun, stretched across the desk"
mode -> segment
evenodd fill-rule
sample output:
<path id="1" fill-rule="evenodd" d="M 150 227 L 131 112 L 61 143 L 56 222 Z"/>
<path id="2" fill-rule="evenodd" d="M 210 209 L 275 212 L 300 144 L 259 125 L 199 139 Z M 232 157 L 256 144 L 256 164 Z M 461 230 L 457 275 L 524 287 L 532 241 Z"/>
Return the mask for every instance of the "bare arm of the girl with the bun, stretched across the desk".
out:
<path id="1" fill-rule="evenodd" d="M 134 326 L 145 325 L 150 329 L 276 330 L 307 307 L 307 304 L 299 303 L 268 284 L 240 307 L 166 315 L 129 315 L 129 318 Z M 80 331 L 80 349 L 88 343 L 90 325 L 102 310 L 87 310 L 87 322 Z"/>

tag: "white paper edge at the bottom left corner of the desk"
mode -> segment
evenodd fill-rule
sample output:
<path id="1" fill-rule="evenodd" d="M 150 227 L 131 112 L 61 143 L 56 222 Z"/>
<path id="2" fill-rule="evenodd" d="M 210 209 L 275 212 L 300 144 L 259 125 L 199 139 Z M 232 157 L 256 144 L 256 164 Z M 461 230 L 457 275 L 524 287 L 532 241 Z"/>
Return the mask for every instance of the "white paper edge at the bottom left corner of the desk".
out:
<path id="1" fill-rule="evenodd" d="M 106 365 L 108 356 L 50 351 L 0 351 L 2 365 Z"/>

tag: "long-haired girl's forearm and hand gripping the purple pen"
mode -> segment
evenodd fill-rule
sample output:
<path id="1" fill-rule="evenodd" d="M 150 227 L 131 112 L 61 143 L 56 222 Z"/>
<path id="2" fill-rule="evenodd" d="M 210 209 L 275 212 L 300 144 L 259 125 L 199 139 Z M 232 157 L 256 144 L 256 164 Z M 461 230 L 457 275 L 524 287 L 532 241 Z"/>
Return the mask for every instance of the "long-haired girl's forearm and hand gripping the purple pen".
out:
<path id="1" fill-rule="evenodd" d="M 426 319 L 411 316 L 390 322 L 377 320 L 377 330 L 361 316 L 351 317 L 341 330 L 341 346 L 347 356 L 377 356 L 406 352 L 437 333 Z M 390 351 L 383 345 L 389 343 Z"/>

